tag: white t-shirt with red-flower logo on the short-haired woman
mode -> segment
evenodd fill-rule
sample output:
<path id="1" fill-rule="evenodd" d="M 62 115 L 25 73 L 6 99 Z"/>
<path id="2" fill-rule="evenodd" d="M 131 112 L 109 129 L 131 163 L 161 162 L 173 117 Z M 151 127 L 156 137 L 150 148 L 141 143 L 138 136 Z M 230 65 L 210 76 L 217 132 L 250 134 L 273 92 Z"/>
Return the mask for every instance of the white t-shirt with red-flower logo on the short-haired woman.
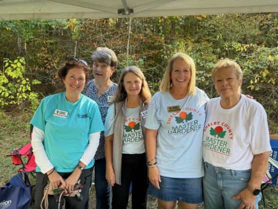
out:
<path id="1" fill-rule="evenodd" d="M 225 169 L 250 169 L 254 154 L 271 150 L 267 113 L 245 95 L 230 109 L 222 108 L 220 99 L 206 105 L 204 160 Z"/>

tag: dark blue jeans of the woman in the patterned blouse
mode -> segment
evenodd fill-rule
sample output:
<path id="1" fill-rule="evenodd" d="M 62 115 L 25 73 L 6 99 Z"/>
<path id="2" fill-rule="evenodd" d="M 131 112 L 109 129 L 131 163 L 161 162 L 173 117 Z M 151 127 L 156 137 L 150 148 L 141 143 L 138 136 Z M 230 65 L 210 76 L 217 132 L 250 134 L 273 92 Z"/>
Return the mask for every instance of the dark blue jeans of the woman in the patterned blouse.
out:
<path id="1" fill-rule="evenodd" d="M 109 209 L 111 205 L 111 186 L 105 178 L 105 157 L 95 160 L 96 209 Z"/>

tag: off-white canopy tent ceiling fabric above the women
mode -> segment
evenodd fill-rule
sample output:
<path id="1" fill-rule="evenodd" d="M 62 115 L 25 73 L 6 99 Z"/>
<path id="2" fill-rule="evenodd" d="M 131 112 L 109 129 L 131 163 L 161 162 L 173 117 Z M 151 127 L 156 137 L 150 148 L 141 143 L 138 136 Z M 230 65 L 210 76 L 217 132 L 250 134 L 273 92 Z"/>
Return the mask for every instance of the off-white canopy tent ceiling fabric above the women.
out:
<path id="1" fill-rule="evenodd" d="M 278 0 L 0 0 L 1 20 L 276 11 Z"/>

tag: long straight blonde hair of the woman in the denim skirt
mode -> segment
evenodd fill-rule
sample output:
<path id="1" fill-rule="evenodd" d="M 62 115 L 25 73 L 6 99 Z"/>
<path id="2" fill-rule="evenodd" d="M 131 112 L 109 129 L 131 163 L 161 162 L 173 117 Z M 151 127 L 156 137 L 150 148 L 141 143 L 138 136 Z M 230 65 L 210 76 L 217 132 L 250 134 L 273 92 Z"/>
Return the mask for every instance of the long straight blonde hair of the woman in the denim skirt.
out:
<path id="1" fill-rule="evenodd" d="M 175 53 L 171 57 L 168 65 L 166 67 L 166 70 L 164 72 L 164 75 L 163 75 L 162 81 L 160 83 L 159 89 L 162 92 L 166 92 L 166 91 L 169 90 L 169 88 L 172 84 L 171 72 L 172 72 L 172 69 L 173 69 L 173 63 L 176 59 L 184 60 L 190 66 L 191 77 L 190 77 L 190 81 L 188 83 L 187 93 L 189 95 L 196 94 L 196 86 L 195 86 L 196 85 L 196 67 L 195 67 L 195 63 L 194 63 L 193 59 L 188 54 L 183 53 L 183 52 Z"/>

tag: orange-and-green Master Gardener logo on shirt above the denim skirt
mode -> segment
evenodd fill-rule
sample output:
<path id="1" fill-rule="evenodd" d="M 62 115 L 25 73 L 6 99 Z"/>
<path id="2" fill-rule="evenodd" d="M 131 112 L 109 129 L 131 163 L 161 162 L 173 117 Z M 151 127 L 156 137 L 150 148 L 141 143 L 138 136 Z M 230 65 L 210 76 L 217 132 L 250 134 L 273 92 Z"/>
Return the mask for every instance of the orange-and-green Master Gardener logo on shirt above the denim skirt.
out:
<path id="1" fill-rule="evenodd" d="M 173 126 L 168 130 L 168 134 L 180 135 L 200 131 L 202 124 L 199 124 L 199 116 L 202 116 L 202 113 L 192 107 L 183 107 L 181 111 L 171 113 L 167 123 L 173 123 Z"/>

